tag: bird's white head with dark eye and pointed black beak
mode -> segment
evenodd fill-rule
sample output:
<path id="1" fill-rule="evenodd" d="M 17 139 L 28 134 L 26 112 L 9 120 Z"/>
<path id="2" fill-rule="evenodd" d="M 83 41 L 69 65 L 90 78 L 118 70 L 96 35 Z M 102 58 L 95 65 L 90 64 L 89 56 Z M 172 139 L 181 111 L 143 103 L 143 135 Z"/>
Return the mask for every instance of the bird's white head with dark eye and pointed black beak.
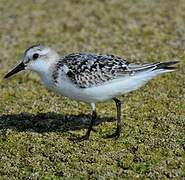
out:
<path id="1" fill-rule="evenodd" d="M 31 46 L 25 50 L 23 61 L 8 74 L 6 74 L 5 78 L 8 78 L 13 74 L 25 69 L 42 74 L 46 72 L 50 65 L 56 62 L 56 60 L 59 58 L 59 54 L 48 46 Z"/>

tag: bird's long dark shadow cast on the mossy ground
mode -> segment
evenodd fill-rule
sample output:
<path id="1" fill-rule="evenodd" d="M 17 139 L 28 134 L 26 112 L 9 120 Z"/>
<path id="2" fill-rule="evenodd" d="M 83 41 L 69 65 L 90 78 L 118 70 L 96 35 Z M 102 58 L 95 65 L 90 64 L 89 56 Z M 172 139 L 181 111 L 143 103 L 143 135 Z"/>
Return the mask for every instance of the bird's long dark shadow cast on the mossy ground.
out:
<path id="1" fill-rule="evenodd" d="M 16 131 L 31 132 L 66 132 L 88 128 L 91 120 L 90 115 L 63 115 L 57 113 L 30 113 L 8 114 L 0 116 L 0 129 L 14 129 Z M 96 125 L 102 122 L 113 122 L 112 117 L 98 118 Z"/>

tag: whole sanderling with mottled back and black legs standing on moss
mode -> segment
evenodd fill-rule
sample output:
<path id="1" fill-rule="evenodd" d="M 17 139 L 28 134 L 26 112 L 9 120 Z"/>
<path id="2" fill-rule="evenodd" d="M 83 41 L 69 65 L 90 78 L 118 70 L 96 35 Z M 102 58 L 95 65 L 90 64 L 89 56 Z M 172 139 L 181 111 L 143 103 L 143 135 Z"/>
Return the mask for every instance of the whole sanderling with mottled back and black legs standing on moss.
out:
<path id="1" fill-rule="evenodd" d="M 5 75 L 5 78 L 24 70 L 37 72 L 46 87 L 77 101 L 89 103 L 92 118 L 86 134 L 88 139 L 97 119 L 96 103 L 113 99 L 117 108 L 117 128 L 109 137 L 120 136 L 121 102 L 117 98 L 143 86 L 155 76 L 171 72 L 178 61 L 133 64 L 107 54 L 72 53 L 61 57 L 45 45 L 26 49 L 23 61 Z"/>

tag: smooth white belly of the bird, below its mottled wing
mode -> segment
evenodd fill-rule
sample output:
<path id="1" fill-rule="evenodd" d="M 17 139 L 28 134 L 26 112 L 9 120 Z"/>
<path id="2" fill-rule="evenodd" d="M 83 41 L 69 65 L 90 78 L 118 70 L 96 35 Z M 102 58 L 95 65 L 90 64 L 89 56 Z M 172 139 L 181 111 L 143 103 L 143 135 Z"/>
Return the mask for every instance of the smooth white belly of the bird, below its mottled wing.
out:
<path id="1" fill-rule="evenodd" d="M 44 84 L 50 90 L 71 99 L 88 103 L 96 103 L 98 101 L 106 101 L 112 99 L 113 97 L 136 90 L 156 75 L 158 75 L 158 73 L 141 73 L 136 76 L 114 79 L 102 85 L 90 88 L 79 88 L 67 78 L 60 79 L 57 85 L 48 80 L 44 80 Z"/>

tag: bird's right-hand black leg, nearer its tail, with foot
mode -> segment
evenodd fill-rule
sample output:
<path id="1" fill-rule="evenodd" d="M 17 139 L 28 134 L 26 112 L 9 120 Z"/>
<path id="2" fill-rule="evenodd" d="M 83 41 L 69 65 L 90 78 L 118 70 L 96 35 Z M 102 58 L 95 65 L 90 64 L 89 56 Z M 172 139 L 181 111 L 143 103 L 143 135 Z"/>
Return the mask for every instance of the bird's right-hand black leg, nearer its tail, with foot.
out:
<path id="1" fill-rule="evenodd" d="M 121 101 L 117 98 L 113 98 L 113 100 L 116 103 L 116 109 L 117 109 L 117 128 L 116 128 L 116 131 L 113 134 L 108 135 L 107 138 L 115 137 L 116 139 L 118 139 L 121 133 Z"/>

